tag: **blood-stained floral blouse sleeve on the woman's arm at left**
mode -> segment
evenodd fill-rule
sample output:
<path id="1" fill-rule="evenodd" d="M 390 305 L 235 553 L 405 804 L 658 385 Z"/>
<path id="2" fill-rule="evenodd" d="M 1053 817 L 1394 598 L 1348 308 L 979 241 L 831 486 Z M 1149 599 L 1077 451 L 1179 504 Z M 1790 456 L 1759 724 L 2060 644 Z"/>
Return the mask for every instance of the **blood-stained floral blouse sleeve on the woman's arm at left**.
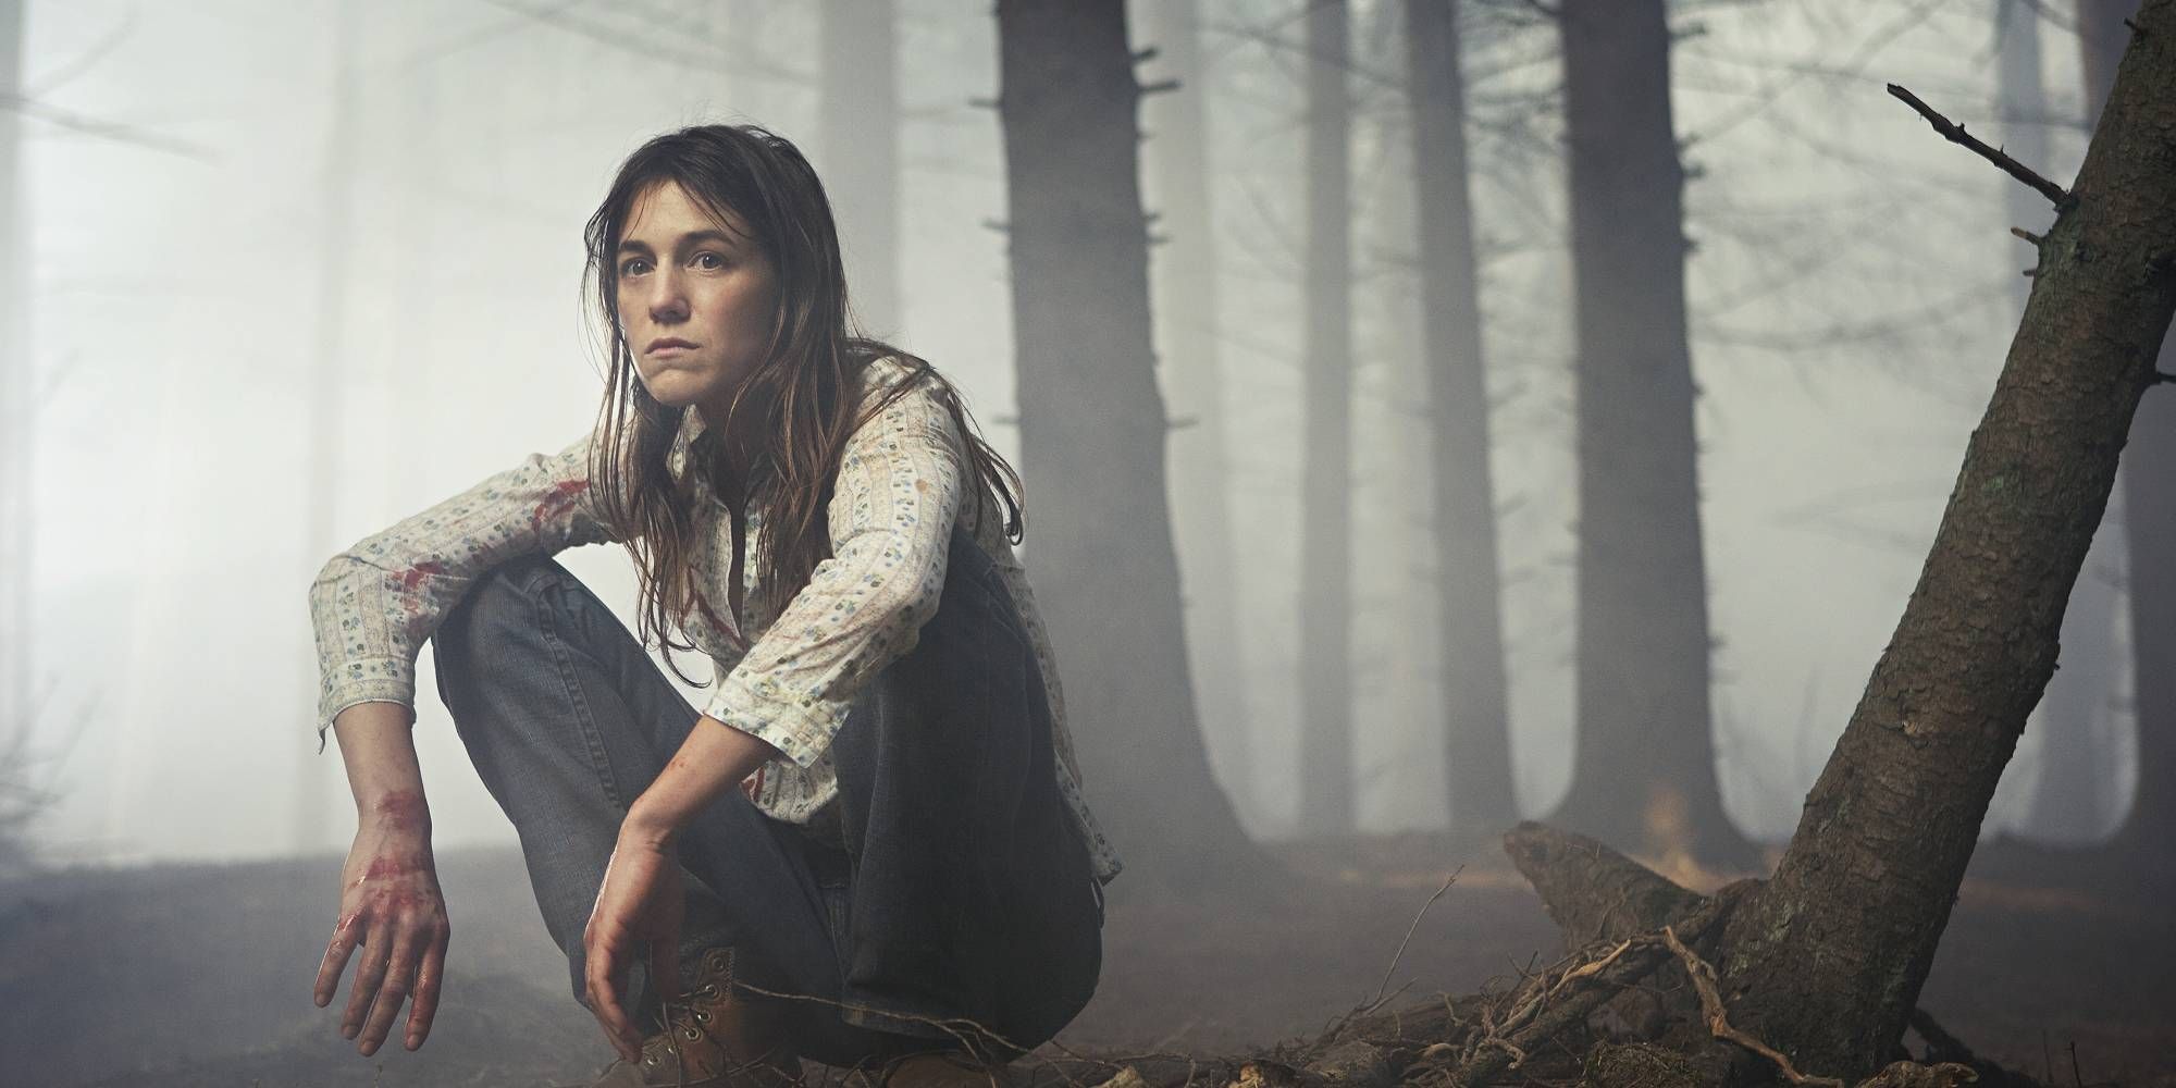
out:
<path id="1" fill-rule="evenodd" d="M 318 751 L 355 703 L 416 705 L 416 653 L 477 577 L 518 555 L 614 540 L 590 500 L 590 440 L 533 453 L 318 570 Z"/>

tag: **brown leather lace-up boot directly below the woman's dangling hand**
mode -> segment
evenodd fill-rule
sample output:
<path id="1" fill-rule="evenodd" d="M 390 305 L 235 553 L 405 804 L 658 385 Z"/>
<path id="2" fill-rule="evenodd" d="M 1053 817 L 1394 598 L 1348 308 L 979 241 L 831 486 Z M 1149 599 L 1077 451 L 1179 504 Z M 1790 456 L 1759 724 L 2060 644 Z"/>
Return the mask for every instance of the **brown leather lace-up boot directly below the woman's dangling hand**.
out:
<path id="1" fill-rule="evenodd" d="M 733 949 L 709 949 L 696 986 L 664 1003 L 666 1029 L 642 1040 L 642 1060 L 605 1066 L 590 1088 L 781 1088 L 801 1081 L 801 1058 L 777 1010 L 733 994 Z"/>

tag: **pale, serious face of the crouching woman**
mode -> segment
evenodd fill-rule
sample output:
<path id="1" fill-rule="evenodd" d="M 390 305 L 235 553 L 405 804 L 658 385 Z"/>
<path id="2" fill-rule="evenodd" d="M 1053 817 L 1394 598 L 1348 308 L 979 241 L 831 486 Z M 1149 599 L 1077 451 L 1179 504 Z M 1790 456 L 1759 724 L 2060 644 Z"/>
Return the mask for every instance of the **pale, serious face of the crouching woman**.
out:
<path id="1" fill-rule="evenodd" d="M 620 333 L 657 403 L 725 420 L 762 363 L 779 285 L 738 215 L 714 220 L 675 181 L 635 198 L 620 231 Z"/>

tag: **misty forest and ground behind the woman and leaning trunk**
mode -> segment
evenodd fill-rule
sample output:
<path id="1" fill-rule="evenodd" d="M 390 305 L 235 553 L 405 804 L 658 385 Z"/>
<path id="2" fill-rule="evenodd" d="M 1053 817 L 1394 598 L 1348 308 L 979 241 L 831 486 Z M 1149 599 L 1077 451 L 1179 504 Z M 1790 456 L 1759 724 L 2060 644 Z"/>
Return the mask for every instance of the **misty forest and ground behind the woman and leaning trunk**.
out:
<path id="1" fill-rule="evenodd" d="M 2052 220 L 1884 83 L 2072 178 L 2132 7 L 1138 0 L 1118 41 L 984 0 L 0 0 L 0 1071 L 372 1084 L 302 1003 L 355 827 L 305 590 L 592 426 L 581 224 L 694 122 L 807 150 L 868 331 L 1025 474 L 1129 866 L 1071 1042 L 1525 975 L 1521 818 L 1765 873 Z M 2176 1047 L 2176 583 L 2128 561 L 2176 553 L 2137 468 L 2172 396 L 1919 1003 L 2050 1079 L 2048 1031 Z M 561 561 L 631 616 L 622 548 Z M 463 936 L 431 1049 L 379 1062 L 566 1079 L 603 1044 L 429 657 Z"/>

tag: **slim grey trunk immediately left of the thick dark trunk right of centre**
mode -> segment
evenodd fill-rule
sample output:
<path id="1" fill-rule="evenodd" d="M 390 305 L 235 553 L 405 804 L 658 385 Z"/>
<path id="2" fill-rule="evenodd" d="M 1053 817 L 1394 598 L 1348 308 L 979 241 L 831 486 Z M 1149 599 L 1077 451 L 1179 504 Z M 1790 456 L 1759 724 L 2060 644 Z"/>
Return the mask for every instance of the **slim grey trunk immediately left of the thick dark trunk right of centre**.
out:
<path id="1" fill-rule="evenodd" d="M 1436 603 L 1443 627 L 1445 783 L 1451 829 L 1519 820 L 1510 768 L 1488 374 L 1467 191 L 1467 102 L 1458 0 L 1406 0 L 1412 172 L 1421 213 L 1423 350 L 1436 485 Z"/>

